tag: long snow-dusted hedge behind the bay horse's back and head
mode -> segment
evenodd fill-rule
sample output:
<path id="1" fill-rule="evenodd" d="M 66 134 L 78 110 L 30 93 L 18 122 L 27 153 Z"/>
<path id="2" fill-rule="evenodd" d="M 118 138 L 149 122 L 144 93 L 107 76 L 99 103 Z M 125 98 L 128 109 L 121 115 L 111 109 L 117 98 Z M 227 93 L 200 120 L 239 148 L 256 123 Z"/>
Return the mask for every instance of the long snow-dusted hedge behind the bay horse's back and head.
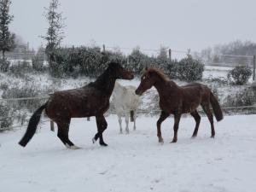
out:
<path id="1" fill-rule="evenodd" d="M 119 52 L 102 52 L 99 47 L 61 48 L 57 49 L 49 71 L 53 76 L 74 76 L 84 74 L 96 77 L 107 67 L 108 61 L 125 62 L 125 56 Z"/>

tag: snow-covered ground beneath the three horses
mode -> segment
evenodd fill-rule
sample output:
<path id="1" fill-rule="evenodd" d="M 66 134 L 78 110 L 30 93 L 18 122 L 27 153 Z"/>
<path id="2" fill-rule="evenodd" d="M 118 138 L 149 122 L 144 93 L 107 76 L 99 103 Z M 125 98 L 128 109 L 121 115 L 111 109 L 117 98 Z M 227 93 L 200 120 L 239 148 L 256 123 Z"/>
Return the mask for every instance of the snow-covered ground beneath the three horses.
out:
<path id="1" fill-rule="evenodd" d="M 137 131 L 119 135 L 116 116 L 107 117 L 108 147 L 92 144 L 95 119 L 73 119 L 70 138 L 79 147 L 64 147 L 41 125 L 31 143 L 17 143 L 25 128 L 0 134 L 0 192 L 253 192 L 256 191 L 256 115 L 229 116 L 210 125 L 201 119 L 198 137 L 191 139 L 195 122 L 181 119 L 177 143 L 173 119 L 162 124 L 164 145 L 157 143 L 157 117 L 137 119 Z"/>

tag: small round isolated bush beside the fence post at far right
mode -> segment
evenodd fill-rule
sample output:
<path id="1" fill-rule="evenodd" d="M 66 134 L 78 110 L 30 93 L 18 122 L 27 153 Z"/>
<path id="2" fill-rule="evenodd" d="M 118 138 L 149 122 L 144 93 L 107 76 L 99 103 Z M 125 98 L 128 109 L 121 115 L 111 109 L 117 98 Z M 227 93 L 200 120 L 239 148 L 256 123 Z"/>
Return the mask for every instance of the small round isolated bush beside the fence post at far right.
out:
<path id="1" fill-rule="evenodd" d="M 252 70 L 247 66 L 237 66 L 234 69 L 230 70 L 227 77 L 230 79 L 231 84 L 247 84 L 248 79 L 252 76 Z"/>

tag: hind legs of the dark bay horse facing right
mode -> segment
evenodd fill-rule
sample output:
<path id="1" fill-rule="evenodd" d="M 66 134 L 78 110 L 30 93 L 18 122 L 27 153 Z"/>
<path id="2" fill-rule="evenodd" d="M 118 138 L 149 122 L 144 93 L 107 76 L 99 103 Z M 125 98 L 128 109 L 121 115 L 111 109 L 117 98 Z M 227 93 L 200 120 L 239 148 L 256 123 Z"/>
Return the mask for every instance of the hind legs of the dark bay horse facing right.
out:
<path id="1" fill-rule="evenodd" d="M 57 122 L 57 125 L 58 125 L 58 137 L 61 139 L 61 142 L 64 143 L 64 145 L 67 148 L 77 149 L 78 147 L 75 146 L 68 138 L 70 119 Z"/>

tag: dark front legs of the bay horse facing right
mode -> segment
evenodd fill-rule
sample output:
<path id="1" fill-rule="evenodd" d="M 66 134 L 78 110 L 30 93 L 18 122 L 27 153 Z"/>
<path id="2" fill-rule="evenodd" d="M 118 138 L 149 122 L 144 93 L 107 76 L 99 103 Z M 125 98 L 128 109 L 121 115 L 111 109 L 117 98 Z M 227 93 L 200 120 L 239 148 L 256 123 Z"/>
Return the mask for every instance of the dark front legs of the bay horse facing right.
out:
<path id="1" fill-rule="evenodd" d="M 103 114 L 96 116 L 96 125 L 98 132 L 96 133 L 95 137 L 93 138 L 93 143 L 96 142 L 98 138 L 100 138 L 100 145 L 102 146 L 108 146 L 107 143 L 104 143 L 102 133 L 105 131 L 108 127 L 108 123 L 106 119 L 104 118 Z"/>

